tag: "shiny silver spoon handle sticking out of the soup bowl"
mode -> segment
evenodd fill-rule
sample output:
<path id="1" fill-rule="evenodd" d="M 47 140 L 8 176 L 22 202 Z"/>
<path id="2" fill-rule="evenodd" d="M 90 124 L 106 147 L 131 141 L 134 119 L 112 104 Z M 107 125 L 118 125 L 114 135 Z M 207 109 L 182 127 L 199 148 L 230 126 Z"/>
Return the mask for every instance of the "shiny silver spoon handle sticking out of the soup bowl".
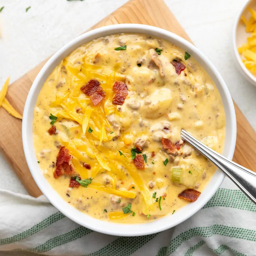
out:
<path id="1" fill-rule="evenodd" d="M 222 170 L 244 192 L 244 194 L 256 204 L 255 172 L 228 160 L 226 157 L 207 147 L 183 129 L 181 130 L 181 138 Z"/>

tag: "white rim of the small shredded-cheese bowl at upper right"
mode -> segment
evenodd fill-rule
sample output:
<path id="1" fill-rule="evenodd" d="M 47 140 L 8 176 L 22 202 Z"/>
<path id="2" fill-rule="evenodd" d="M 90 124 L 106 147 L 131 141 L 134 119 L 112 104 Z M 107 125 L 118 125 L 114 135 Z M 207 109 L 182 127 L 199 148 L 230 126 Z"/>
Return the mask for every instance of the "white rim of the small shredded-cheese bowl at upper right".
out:
<path id="1" fill-rule="evenodd" d="M 240 54 L 237 50 L 237 44 L 236 44 L 236 37 L 237 37 L 237 27 L 238 24 L 241 20 L 241 16 L 245 9 L 248 7 L 248 5 L 252 2 L 253 0 L 247 0 L 245 3 L 242 4 L 241 8 L 239 9 L 239 12 L 236 16 L 234 27 L 233 27 L 233 36 L 232 36 L 232 41 L 233 41 L 233 51 L 236 59 L 236 66 L 238 67 L 239 71 L 241 74 L 254 86 L 256 86 L 256 77 L 253 76 L 253 74 L 245 67 L 244 63 L 242 62 L 242 59 L 240 57 Z"/>

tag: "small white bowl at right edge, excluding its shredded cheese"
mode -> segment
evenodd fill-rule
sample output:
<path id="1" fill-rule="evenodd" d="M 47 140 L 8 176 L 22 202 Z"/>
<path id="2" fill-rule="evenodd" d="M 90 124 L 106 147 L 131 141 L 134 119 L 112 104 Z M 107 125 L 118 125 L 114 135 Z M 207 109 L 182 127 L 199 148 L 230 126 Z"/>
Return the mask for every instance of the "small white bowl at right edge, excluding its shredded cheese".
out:
<path id="1" fill-rule="evenodd" d="M 248 11 L 248 7 L 256 9 L 256 0 L 246 1 L 246 3 L 241 7 L 241 11 L 239 11 L 237 15 L 233 29 L 233 50 L 235 53 L 237 68 L 250 83 L 256 86 L 256 77 L 245 67 L 244 63 L 242 62 L 242 56 L 237 50 L 238 47 L 247 42 L 247 37 L 251 36 L 251 33 L 246 33 L 245 25 L 241 20 L 241 16 L 244 16 L 247 20 L 251 16 L 250 12 Z"/>

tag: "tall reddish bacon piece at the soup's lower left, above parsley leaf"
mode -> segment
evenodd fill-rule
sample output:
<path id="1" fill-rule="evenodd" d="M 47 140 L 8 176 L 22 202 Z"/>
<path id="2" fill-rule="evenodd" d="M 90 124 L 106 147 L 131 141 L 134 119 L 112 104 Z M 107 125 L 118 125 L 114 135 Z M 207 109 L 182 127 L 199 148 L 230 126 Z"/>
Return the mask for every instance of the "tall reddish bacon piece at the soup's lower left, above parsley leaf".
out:
<path id="1" fill-rule="evenodd" d="M 75 173 L 75 167 L 72 164 L 72 156 L 66 147 L 61 147 L 56 159 L 56 169 L 53 177 L 57 179 L 59 176 L 66 174 L 72 175 Z"/>

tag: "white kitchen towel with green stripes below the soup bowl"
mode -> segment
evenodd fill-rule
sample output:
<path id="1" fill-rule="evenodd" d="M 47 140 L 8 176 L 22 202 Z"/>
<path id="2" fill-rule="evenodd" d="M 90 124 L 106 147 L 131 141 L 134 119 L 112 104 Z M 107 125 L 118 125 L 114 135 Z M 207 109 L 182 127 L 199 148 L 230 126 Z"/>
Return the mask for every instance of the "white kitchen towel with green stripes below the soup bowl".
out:
<path id="1" fill-rule="evenodd" d="M 175 228 L 117 237 L 81 227 L 44 197 L 0 190 L 0 255 L 256 255 L 256 205 L 227 178 L 197 214 Z"/>

